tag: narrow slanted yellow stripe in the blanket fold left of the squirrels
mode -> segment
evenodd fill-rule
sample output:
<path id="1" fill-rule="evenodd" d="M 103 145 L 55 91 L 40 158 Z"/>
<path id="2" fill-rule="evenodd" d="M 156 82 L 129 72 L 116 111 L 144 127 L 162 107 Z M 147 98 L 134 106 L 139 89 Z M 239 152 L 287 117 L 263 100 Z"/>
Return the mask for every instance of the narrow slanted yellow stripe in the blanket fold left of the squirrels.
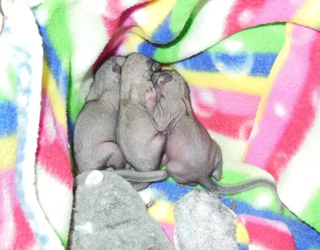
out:
<path id="1" fill-rule="evenodd" d="M 44 60 L 43 63 L 43 87 L 45 88 L 54 117 L 60 123 L 60 125 L 67 129 L 67 121 L 66 121 L 66 108 L 61 99 L 59 89 L 57 87 L 57 83 L 51 74 L 47 62 Z"/>

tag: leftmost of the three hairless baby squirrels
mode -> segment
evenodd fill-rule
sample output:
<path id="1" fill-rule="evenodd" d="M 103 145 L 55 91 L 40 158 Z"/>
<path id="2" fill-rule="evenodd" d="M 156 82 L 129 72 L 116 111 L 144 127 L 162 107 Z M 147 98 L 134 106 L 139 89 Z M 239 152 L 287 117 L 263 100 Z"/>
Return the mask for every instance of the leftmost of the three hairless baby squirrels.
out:
<path id="1" fill-rule="evenodd" d="M 130 169 L 116 143 L 120 74 L 125 57 L 111 57 L 97 70 L 77 118 L 73 150 L 79 172 Z"/>

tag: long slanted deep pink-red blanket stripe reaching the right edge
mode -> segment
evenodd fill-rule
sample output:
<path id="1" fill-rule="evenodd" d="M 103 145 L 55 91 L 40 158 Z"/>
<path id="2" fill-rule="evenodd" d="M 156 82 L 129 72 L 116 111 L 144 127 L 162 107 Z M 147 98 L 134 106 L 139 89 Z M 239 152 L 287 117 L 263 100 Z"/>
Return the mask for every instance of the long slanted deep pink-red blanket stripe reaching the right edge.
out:
<path id="1" fill-rule="evenodd" d="M 316 108 L 320 102 L 320 33 L 311 49 L 309 74 L 301 92 L 300 99 L 294 107 L 293 114 L 287 123 L 286 131 L 279 138 L 279 143 L 270 156 L 267 171 L 275 179 L 281 175 L 288 161 L 296 154 L 310 130 L 314 119 Z"/>

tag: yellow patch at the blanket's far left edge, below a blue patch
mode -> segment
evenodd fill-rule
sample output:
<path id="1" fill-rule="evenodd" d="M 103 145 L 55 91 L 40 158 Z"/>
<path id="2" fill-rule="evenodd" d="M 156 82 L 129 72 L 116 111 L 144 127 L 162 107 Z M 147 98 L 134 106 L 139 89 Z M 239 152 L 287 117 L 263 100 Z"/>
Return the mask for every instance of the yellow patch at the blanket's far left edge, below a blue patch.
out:
<path id="1" fill-rule="evenodd" d="M 17 145 L 18 138 L 16 135 L 0 138 L 0 170 L 6 170 L 14 166 Z"/>

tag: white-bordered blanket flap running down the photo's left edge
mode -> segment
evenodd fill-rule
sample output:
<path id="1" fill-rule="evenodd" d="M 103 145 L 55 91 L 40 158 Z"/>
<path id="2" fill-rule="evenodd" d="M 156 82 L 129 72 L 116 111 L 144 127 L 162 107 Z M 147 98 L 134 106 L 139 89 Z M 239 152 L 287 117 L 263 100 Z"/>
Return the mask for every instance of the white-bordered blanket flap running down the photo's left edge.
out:
<path id="1" fill-rule="evenodd" d="M 63 250 L 34 185 L 42 39 L 24 0 L 2 6 L 6 21 L 0 34 L 0 249 Z"/>

